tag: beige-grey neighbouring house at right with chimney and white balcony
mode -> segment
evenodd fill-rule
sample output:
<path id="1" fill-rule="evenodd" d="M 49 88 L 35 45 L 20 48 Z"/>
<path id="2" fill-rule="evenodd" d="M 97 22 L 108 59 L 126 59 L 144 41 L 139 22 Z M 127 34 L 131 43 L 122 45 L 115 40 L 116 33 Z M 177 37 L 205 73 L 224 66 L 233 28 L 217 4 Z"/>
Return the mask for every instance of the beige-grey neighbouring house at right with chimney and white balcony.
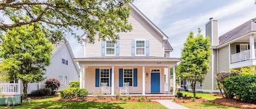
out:
<path id="1" fill-rule="evenodd" d="M 210 47 L 212 52 L 209 63 L 210 70 L 205 81 L 197 84 L 196 91 L 219 92 L 216 89 L 215 75 L 217 73 L 256 65 L 256 23 L 254 20 L 249 20 L 219 37 L 218 20 L 210 18 L 210 21 L 205 25 L 206 36 L 210 37 L 212 43 Z"/>

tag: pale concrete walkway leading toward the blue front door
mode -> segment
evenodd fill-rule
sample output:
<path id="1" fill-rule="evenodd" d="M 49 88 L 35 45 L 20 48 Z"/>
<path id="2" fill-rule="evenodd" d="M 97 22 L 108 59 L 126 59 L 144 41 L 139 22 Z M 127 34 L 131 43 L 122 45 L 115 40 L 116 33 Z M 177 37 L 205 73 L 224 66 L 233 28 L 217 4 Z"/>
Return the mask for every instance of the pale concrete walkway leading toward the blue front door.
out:
<path id="1" fill-rule="evenodd" d="M 159 102 L 160 104 L 170 109 L 189 109 L 188 107 L 184 107 L 182 105 L 176 104 L 171 100 L 155 100 L 155 101 Z"/>

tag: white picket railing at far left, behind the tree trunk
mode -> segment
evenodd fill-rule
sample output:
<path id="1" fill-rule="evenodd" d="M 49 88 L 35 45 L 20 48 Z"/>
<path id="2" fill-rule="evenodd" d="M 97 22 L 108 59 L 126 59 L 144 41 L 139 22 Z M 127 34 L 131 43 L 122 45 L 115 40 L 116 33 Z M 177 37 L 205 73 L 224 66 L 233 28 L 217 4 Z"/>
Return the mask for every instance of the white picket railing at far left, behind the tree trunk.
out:
<path id="1" fill-rule="evenodd" d="M 4 83 L 0 84 L 0 93 L 2 94 L 21 94 L 22 84 L 17 83 Z M 27 93 L 30 94 L 32 91 L 39 89 L 39 83 L 29 83 L 27 87 Z"/>

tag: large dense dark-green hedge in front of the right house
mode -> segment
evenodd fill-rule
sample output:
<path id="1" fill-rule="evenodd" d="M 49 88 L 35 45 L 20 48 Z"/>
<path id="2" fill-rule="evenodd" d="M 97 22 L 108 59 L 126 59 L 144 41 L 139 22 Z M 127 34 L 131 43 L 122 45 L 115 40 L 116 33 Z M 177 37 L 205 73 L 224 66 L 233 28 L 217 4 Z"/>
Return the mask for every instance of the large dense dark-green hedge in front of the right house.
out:
<path id="1" fill-rule="evenodd" d="M 256 75 L 239 75 L 224 80 L 226 91 L 241 101 L 256 103 Z"/>

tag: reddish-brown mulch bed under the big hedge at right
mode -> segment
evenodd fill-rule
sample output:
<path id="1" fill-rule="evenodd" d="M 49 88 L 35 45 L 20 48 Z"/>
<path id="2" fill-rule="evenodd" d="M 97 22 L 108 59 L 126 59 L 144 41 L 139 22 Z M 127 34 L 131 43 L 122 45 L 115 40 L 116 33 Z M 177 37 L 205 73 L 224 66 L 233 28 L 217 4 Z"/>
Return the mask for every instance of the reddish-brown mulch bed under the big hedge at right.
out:
<path id="1" fill-rule="evenodd" d="M 239 108 L 247 108 L 247 109 L 255 109 L 256 104 L 249 104 L 245 102 L 241 102 L 235 99 L 224 99 L 224 98 L 219 98 L 211 101 L 214 104 L 218 105 L 224 105 L 224 106 L 231 106 L 231 107 L 239 107 Z"/>

